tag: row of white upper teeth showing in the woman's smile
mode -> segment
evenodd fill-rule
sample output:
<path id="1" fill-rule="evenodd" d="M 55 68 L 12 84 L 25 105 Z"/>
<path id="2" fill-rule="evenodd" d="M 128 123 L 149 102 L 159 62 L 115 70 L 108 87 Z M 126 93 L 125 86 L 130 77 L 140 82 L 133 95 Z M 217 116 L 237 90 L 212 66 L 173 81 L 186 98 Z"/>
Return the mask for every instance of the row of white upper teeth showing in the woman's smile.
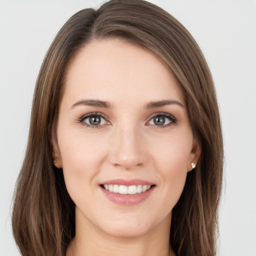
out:
<path id="1" fill-rule="evenodd" d="M 116 185 L 116 184 L 105 184 L 103 187 L 114 193 L 119 194 L 135 194 L 135 193 L 141 193 L 147 191 L 151 186 L 150 185 L 131 185 L 131 186 L 125 186 L 125 185 Z"/>

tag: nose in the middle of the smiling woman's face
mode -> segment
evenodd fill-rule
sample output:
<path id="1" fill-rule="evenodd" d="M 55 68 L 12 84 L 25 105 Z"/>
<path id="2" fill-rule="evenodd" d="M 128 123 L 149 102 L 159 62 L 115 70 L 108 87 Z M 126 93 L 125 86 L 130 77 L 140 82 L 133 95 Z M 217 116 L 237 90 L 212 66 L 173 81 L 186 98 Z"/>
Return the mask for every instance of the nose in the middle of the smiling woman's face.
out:
<path id="1" fill-rule="evenodd" d="M 147 161 L 142 134 L 135 127 L 116 130 L 109 144 L 109 161 L 115 167 L 131 170 Z"/>

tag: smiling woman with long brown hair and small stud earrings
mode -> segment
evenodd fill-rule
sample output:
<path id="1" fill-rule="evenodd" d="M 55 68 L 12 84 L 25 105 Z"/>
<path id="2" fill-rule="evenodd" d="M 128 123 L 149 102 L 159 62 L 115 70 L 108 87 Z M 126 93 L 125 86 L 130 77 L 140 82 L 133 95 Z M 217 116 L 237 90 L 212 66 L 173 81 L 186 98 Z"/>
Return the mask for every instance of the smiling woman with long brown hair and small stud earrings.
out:
<path id="1" fill-rule="evenodd" d="M 142 0 L 75 13 L 42 63 L 12 225 L 22 255 L 215 255 L 223 148 L 191 35 Z"/>

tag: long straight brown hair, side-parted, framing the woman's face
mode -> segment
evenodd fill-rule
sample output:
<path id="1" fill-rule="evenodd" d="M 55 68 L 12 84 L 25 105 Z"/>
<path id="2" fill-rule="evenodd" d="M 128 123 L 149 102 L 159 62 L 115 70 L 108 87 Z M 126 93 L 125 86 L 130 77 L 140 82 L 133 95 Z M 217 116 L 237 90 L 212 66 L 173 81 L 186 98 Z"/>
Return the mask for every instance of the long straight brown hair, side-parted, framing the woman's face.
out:
<path id="1" fill-rule="evenodd" d="M 12 212 L 22 255 L 65 255 L 75 235 L 74 203 L 62 171 L 52 162 L 52 134 L 67 62 L 93 39 L 120 37 L 146 47 L 175 74 L 183 91 L 199 161 L 188 172 L 172 209 L 170 245 L 175 254 L 215 255 L 222 186 L 223 145 L 214 84 L 190 33 L 169 13 L 143 0 L 110 0 L 75 13 L 54 38 L 36 81 L 29 136 Z"/>

